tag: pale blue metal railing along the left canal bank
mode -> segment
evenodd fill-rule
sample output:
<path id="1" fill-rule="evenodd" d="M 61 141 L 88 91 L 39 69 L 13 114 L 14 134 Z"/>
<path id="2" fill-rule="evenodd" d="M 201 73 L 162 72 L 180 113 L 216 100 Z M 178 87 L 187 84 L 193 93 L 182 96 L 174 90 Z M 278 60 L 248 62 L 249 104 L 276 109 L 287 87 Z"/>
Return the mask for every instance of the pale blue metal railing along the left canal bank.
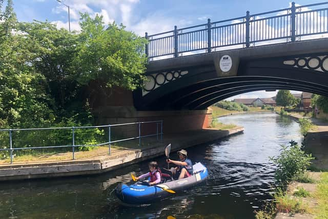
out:
<path id="1" fill-rule="evenodd" d="M 142 124 L 156 124 L 156 133 L 154 134 L 148 134 L 148 135 L 141 135 L 141 125 Z M 130 137 L 130 138 L 124 138 L 120 140 L 111 141 L 111 128 L 117 127 L 117 126 L 127 126 L 127 125 L 137 125 L 138 126 L 138 136 Z M 108 128 L 108 142 L 101 143 L 101 144 L 94 144 L 94 145 L 76 145 L 75 144 L 75 131 L 77 129 L 88 129 L 88 128 Z M 12 135 L 13 132 L 19 132 L 19 131 L 35 131 L 35 130 L 63 130 L 63 129 L 70 129 L 72 131 L 72 144 L 71 145 L 57 145 L 57 146 L 30 146 L 29 147 L 13 147 L 13 139 Z M 9 148 L 0 148 L 0 151 L 9 151 L 10 153 L 10 163 L 13 162 L 13 152 L 16 150 L 31 150 L 31 149 L 49 149 L 49 148 L 72 148 L 72 159 L 74 160 L 74 152 L 76 147 L 98 147 L 98 146 L 104 146 L 108 145 L 109 149 L 109 155 L 111 154 L 111 144 L 116 142 L 124 142 L 128 140 L 134 140 L 139 139 L 139 147 L 141 147 L 141 138 L 143 137 L 150 137 L 150 136 L 156 136 L 157 140 L 162 140 L 163 138 L 163 121 L 149 121 L 149 122 L 138 122 L 138 123 L 125 123 L 125 124 L 115 124 L 115 125 L 104 125 L 104 126 L 79 126 L 79 127 L 58 127 L 58 128 L 31 128 L 31 129 L 0 129 L 1 132 L 9 132 Z"/>

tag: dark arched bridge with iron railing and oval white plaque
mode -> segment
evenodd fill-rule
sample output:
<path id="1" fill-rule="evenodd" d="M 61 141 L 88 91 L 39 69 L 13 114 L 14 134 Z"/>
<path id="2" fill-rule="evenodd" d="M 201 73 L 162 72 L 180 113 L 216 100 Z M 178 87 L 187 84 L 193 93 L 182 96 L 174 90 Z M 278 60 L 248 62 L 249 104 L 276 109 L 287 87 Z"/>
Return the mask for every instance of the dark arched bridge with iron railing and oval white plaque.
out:
<path id="1" fill-rule="evenodd" d="M 138 110 L 204 110 L 257 90 L 328 96 L 328 2 L 148 35 Z"/>

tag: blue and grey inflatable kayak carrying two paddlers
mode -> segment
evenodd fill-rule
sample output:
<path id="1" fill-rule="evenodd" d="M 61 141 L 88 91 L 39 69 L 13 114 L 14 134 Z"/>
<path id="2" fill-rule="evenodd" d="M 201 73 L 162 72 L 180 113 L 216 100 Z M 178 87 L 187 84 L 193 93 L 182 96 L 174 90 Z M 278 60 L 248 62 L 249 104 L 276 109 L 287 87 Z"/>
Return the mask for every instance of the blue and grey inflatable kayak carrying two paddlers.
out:
<path id="1" fill-rule="evenodd" d="M 193 165 L 193 172 L 194 174 L 187 178 L 157 184 L 156 186 L 149 186 L 142 183 L 135 183 L 130 186 L 120 184 L 115 188 L 115 194 L 124 204 L 150 204 L 154 200 L 165 198 L 171 194 L 164 189 L 177 192 L 201 183 L 208 176 L 207 168 L 201 163 Z"/>

